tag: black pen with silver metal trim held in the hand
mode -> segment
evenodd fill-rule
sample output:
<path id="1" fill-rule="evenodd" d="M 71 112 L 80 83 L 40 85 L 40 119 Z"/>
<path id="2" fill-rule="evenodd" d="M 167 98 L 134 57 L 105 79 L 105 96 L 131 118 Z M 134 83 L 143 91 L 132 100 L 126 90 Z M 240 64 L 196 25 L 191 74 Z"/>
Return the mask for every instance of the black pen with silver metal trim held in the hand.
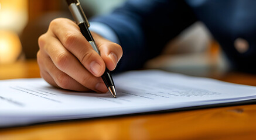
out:
<path id="1" fill-rule="evenodd" d="M 87 39 L 87 41 L 91 44 L 91 47 L 93 47 L 93 50 L 100 55 L 100 51 L 98 50 L 95 44 L 95 41 L 93 39 L 93 36 L 91 36 L 91 33 L 88 29 L 88 27 L 90 27 L 90 23 L 88 22 L 86 15 L 84 14 L 83 9 L 81 8 L 80 2 L 78 0 L 66 0 L 66 1 L 67 1 L 67 5 L 69 5 L 69 10 L 72 16 L 76 20 L 77 25 L 80 27 L 81 33 Z M 116 97 L 117 92 L 115 91 L 115 85 L 114 85 L 112 76 L 110 74 L 110 71 L 107 68 L 105 68 L 105 72 L 101 76 L 101 78 L 103 79 L 111 95 Z"/>

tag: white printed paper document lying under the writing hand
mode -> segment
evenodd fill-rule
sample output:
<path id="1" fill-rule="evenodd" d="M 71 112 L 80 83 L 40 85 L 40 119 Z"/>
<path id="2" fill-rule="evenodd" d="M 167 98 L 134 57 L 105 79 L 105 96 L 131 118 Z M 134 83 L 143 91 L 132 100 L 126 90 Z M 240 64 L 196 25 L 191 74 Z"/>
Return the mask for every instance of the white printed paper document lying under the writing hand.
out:
<path id="1" fill-rule="evenodd" d="M 0 81 L 0 127 L 256 99 L 254 86 L 163 71 L 131 71 L 113 79 L 117 98 L 56 89 L 43 79 Z"/>

